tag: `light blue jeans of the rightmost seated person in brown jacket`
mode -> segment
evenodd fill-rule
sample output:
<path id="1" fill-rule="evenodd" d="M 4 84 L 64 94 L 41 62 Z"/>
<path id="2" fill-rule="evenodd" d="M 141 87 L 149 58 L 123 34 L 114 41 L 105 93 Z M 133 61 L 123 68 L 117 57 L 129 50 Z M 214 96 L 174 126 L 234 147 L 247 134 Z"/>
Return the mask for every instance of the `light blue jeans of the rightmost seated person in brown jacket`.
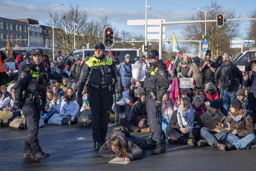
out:
<path id="1" fill-rule="evenodd" d="M 232 133 L 227 134 L 227 141 L 236 146 L 237 149 L 248 149 L 255 141 L 255 134 L 248 134 L 244 137 L 238 137 Z"/>

